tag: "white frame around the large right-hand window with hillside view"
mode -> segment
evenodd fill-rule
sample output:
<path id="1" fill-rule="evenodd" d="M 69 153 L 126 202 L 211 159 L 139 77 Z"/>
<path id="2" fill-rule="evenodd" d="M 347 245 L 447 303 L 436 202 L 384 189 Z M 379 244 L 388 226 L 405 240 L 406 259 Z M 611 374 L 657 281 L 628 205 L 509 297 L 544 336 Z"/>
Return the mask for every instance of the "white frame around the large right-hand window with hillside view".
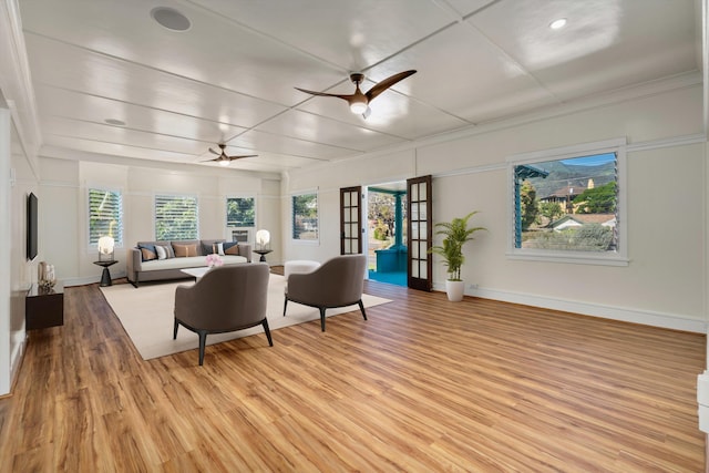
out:
<path id="1" fill-rule="evenodd" d="M 552 150 L 515 154 L 507 157 L 507 253 L 510 259 L 523 259 L 535 261 L 555 261 L 582 265 L 628 266 L 628 207 L 626 200 L 627 188 L 627 141 L 625 137 L 607 140 L 595 143 L 585 143 L 574 146 L 564 146 Z M 515 247 L 515 196 L 514 196 L 514 167 L 517 165 L 542 163 L 547 161 L 571 160 L 604 153 L 615 153 L 617 158 L 617 222 L 618 248 L 615 251 L 565 251 L 538 248 Z"/>

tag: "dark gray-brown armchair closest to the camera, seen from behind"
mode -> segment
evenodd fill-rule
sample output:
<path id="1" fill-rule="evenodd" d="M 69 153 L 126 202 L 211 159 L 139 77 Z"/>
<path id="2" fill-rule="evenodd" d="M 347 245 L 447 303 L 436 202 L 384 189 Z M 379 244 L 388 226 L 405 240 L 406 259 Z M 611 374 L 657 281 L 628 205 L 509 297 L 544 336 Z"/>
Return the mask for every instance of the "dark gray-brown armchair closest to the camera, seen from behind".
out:
<path id="1" fill-rule="evenodd" d="M 194 286 L 175 289 L 175 329 L 185 327 L 199 336 L 199 366 L 204 362 L 207 333 L 223 333 L 264 326 L 268 345 L 274 346 L 266 320 L 268 265 L 247 263 L 213 268 Z"/>

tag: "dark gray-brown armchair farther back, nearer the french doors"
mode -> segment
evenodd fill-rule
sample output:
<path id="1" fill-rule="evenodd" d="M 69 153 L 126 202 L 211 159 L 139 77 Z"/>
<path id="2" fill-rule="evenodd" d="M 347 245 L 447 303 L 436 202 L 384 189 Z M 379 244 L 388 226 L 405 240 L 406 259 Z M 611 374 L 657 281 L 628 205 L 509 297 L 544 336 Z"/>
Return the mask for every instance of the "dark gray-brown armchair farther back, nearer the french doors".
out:
<path id="1" fill-rule="evenodd" d="M 367 312 L 362 305 L 367 256 L 342 255 L 323 263 L 307 274 L 292 274 L 286 281 L 284 317 L 288 301 L 317 307 L 320 310 L 320 328 L 325 331 L 325 310 L 335 307 L 359 305 L 362 317 Z"/>

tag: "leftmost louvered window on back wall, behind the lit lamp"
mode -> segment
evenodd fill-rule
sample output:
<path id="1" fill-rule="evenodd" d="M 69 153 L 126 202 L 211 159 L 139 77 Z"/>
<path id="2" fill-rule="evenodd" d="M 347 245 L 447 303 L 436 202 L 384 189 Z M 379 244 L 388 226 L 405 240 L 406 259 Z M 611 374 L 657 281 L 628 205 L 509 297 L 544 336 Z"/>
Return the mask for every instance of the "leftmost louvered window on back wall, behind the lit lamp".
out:
<path id="1" fill-rule="evenodd" d="M 123 200 L 121 193 L 102 188 L 89 189 L 89 245 L 102 236 L 111 236 L 123 246 Z"/>

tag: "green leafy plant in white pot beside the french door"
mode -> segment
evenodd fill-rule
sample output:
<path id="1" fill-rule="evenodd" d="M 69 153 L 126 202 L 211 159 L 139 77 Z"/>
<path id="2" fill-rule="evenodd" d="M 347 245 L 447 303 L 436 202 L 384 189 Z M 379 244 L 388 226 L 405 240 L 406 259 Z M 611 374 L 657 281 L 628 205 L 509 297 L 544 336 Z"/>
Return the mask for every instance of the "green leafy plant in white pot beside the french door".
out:
<path id="1" fill-rule="evenodd" d="M 433 246 L 430 251 L 443 257 L 443 265 L 448 267 L 445 280 L 445 294 L 451 301 L 463 300 L 465 282 L 461 279 L 461 267 L 465 263 L 463 245 L 473 239 L 477 230 L 486 230 L 484 227 L 467 227 L 467 220 L 477 212 L 471 212 L 464 217 L 455 217 L 451 222 L 435 224 L 436 235 L 443 235 L 442 246 Z"/>

